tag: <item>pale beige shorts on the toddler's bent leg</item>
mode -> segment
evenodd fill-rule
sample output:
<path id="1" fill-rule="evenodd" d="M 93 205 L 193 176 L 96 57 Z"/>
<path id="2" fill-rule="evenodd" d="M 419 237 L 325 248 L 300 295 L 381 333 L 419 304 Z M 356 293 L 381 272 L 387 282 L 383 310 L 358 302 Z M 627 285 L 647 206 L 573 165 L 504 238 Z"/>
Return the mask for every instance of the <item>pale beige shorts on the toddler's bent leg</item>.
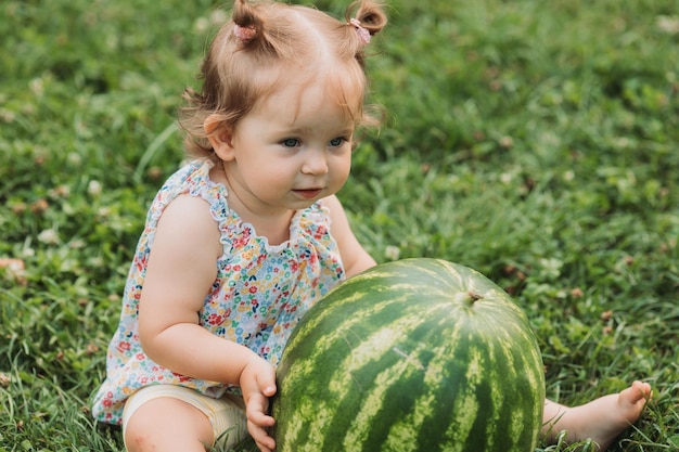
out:
<path id="1" fill-rule="evenodd" d="M 226 393 L 220 399 L 213 399 L 182 386 L 152 385 L 139 389 L 127 399 L 123 411 L 123 438 L 132 414 L 144 403 L 163 397 L 187 402 L 205 414 L 213 426 L 215 444 L 221 448 L 234 445 L 247 436 L 245 403 L 242 397 Z"/>

